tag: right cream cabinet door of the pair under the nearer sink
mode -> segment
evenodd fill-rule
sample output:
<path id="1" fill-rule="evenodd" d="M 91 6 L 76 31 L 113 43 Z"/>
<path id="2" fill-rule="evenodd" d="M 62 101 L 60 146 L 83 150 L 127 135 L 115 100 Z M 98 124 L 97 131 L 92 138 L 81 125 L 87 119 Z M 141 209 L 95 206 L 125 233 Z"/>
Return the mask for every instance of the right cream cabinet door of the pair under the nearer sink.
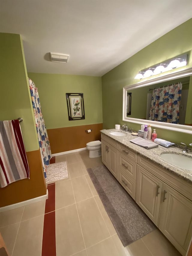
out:
<path id="1" fill-rule="evenodd" d="M 192 236 L 192 203 L 166 184 L 159 229 L 182 255 L 186 254 Z"/>

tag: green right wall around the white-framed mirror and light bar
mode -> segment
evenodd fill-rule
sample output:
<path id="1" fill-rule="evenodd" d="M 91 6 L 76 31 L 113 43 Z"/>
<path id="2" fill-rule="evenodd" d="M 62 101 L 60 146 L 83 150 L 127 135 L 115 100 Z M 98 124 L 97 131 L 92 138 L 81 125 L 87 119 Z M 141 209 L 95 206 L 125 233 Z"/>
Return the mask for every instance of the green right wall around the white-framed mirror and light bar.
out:
<path id="1" fill-rule="evenodd" d="M 143 48 L 102 77 L 103 125 L 105 129 L 114 128 L 114 125 L 118 123 L 121 125 L 125 124 L 122 121 L 123 87 L 139 82 L 134 77 L 140 70 L 182 53 L 188 53 L 187 68 L 192 66 L 191 31 L 192 19 Z M 138 104 L 140 105 L 140 102 Z M 142 108 L 141 105 L 140 108 Z M 140 129 L 140 125 L 129 122 L 127 124 L 129 127 L 134 128 L 134 130 Z M 176 143 L 183 141 L 188 144 L 192 140 L 192 136 L 189 134 L 167 131 L 165 129 L 156 129 L 156 131 L 159 138 Z"/>

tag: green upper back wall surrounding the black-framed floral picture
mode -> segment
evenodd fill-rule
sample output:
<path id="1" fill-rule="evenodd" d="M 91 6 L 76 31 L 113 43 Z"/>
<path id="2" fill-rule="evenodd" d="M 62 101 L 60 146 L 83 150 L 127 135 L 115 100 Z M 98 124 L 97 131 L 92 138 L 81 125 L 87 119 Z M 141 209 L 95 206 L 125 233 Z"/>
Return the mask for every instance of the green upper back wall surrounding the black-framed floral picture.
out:
<path id="1" fill-rule="evenodd" d="M 101 77 L 42 73 L 28 76 L 38 88 L 47 129 L 103 122 Z M 66 93 L 74 92 L 83 93 L 85 119 L 69 121 Z"/>

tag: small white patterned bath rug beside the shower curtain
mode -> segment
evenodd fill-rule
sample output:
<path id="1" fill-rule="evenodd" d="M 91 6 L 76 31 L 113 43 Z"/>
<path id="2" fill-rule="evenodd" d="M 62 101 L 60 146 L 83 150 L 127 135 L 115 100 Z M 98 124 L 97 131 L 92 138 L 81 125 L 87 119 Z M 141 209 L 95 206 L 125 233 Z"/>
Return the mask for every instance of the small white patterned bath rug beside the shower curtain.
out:
<path id="1" fill-rule="evenodd" d="M 46 176 L 46 184 L 68 178 L 67 162 L 49 164 Z"/>

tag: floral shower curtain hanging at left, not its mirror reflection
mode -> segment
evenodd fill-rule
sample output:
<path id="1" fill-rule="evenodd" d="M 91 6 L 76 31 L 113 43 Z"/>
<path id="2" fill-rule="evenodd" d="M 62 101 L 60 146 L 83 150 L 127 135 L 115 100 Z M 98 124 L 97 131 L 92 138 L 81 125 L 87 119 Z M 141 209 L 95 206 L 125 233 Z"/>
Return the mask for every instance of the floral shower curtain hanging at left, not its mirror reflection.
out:
<path id="1" fill-rule="evenodd" d="M 31 79 L 29 79 L 29 88 L 31 93 L 33 112 L 35 115 L 35 124 L 38 134 L 39 147 L 41 149 L 41 160 L 43 164 L 44 175 L 46 178 L 46 168 L 49 165 L 49 160 L 51 159 L 51 149 L 45 127 L 45 122 L 41 112 L 38 89 L 35 87 L 35 83 L 33 83 Z"/>

